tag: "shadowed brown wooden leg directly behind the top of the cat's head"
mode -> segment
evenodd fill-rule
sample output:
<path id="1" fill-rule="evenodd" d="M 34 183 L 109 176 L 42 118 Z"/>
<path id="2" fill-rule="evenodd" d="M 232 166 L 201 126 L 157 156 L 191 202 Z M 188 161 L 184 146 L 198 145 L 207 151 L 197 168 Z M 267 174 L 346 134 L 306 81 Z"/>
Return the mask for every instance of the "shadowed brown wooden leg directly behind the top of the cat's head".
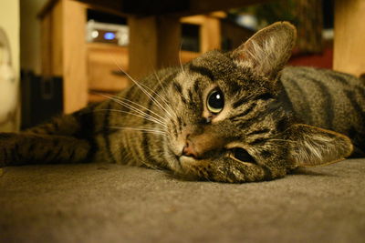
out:
<path id="1" fill-rule="evenodd" d="M 130 26 L 130 76 L 141 78 L 166 66 L 179 64 L 181 24 L 168 16 L 133 16 Z"/>

